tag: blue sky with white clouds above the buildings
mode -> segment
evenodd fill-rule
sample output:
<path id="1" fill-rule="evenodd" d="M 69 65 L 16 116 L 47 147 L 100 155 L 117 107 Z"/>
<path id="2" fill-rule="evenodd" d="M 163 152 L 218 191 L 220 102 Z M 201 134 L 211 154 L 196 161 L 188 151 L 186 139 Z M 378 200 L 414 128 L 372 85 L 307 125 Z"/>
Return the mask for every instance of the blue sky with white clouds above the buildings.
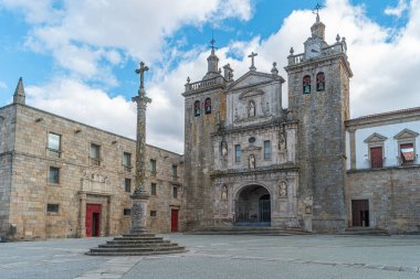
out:
<path id="1" fill-rule="evenodd" d="M 345 36 L 351 118 L 420 106 L 420 0 L 318 0 L 326 41 Z M 0 107 L 23 77 L 27 104 L 135 139 L 138 63 L 149 144 L 183 153 L 183 85 L 219 67 L 280 75 L 315 22 L 308 0 L 0 0 Z M 283 85 L 283 107 L 287 84 Z"/>

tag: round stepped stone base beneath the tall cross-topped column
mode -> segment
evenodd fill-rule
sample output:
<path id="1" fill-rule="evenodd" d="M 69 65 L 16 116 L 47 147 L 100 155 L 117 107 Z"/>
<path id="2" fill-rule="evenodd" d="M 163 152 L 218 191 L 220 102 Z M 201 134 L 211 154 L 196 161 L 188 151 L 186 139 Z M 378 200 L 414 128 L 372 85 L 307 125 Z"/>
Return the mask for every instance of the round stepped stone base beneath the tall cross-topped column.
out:
<path id="1" fill-rule="evenodd" d="M 123 235 L 92 248 L 90 256 L 153 256 L 185 253 L 186 248 L 154 234 Z"/>

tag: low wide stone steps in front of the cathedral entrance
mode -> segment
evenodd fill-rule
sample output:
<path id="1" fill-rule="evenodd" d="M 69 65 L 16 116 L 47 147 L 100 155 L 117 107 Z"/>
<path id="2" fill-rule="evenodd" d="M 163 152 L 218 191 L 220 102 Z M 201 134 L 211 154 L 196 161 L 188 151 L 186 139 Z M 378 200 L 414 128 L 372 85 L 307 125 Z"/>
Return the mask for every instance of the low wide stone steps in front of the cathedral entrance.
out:
<path id="1" fill-rule="evenodd" d="M 234 226 L 234 227 L 212 227 L 203 230 L 192 230 L 191 235 L 308 235 L 311 232 L 300 227 L 255 227 L 255 226 Z"/>

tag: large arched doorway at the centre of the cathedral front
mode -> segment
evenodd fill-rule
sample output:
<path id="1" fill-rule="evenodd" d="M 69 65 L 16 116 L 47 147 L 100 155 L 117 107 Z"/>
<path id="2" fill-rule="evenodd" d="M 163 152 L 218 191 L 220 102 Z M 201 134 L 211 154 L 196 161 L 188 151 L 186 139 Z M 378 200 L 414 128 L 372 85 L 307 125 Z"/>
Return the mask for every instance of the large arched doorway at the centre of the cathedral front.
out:
<path id="1" fill-rule="evenodd" d="M 261 185 L 243 187 L 235 201 L 237 226 L 271 226 L 270 192 Z"/>

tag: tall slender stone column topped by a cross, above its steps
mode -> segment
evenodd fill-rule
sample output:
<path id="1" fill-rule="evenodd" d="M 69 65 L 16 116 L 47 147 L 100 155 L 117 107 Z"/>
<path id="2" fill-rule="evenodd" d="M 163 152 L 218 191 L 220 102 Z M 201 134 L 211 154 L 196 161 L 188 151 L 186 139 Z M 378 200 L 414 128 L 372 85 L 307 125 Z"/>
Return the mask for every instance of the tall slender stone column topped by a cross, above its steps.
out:
<path id="1" fill-rule="evenodd" d="M 138 96 L 133 97 L 133 101 L 137 104 L 137 143 L 136 143 L 136 189 L 133 193 L 132 201 L 132 229 L 130 234 L 146 233 L 147 218 L 147 200 L 149 195 L 145 189 L 146 173 L 146 107 L 151 101 L 146 96 L 144 88 L 144 73 L 148 71 L 145 63 L 140 63 L 140 68 L 136 69 L 140 74 L 140 88 Z"/>

